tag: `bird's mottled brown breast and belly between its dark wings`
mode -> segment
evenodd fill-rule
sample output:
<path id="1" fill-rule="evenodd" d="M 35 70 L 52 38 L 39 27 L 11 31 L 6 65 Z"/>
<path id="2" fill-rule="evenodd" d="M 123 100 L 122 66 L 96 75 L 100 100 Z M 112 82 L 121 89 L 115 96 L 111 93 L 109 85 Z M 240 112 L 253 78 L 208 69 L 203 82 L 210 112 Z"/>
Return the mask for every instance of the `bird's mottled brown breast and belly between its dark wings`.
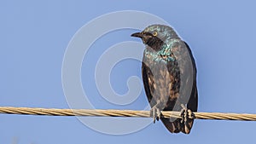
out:
<path id="1" fill-rule="evenodd" d="M 143 55 L 143 63 L 148 67 L 148 83 L 153 84 L 150 87 L 153 100 L 160 101 L 160 108 L 163 109 L 170 101 L 175 101 L 178 96 L 177 66 L 167 56 L 147 52 Z"/>

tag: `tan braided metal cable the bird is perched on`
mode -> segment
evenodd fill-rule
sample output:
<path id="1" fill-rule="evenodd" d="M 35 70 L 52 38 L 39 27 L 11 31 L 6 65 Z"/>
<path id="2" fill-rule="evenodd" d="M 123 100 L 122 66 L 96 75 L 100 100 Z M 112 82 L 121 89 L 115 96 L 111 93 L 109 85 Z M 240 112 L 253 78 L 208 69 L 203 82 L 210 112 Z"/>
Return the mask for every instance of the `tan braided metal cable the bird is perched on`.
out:
<path id="1" fill-rule="evenodd" d="M 135 117 L 150 118 L 149 111 L 134 110 L 101 110 L 101 109 L 55 109 L 30 107 L 0 107 L 0 113 L 48 115 L 48 116 L 89 116 L 89 117 Z M 163 111 L 165 118 L 181 118 L 181 112 Z M 256 114 L 221 113 L 221 112 L 189 112 L 189 118 L 256 121 Z"/>

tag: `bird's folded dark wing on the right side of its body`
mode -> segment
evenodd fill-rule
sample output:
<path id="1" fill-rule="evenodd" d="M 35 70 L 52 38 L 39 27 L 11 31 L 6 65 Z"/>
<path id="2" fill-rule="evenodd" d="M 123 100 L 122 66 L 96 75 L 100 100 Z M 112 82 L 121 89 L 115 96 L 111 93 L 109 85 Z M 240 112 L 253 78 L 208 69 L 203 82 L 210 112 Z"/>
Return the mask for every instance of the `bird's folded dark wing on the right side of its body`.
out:
<path id="1" fill-rule="evenodd" d="M 176 106 L 172 110 L 180 111 L 180 104 L 187 105 L 192 111 L 197 110 L 197 89 L 196 89 L 196 67 L 195 60 L 189 45 L 181 40 L 173 43 L 172 55 L 176 57 L 179 73 L 179 96 Z M 173 69 L 172 65 L 168 65 L 168 71 Z M 176 73 L 171 72 L 172 75 Z M 177 78 L 177 76 L 175 76 Z"/>

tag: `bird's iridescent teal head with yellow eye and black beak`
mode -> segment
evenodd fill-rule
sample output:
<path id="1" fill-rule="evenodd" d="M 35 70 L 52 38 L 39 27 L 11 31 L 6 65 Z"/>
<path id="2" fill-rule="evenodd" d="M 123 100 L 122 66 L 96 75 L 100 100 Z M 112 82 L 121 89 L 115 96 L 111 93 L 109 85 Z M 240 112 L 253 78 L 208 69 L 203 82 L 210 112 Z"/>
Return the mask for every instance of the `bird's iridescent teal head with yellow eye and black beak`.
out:
<path id="1" fill-rule="evenodd" d="M 144 44 L 158 51 L 162 48 L 162 45 L 166 43 L 166 39 L 177 38 L 178 36 L 170 26 L 151 25 L 146 27 L 143 32 L 131 34 L 131 37 L 142 38 Z"/>

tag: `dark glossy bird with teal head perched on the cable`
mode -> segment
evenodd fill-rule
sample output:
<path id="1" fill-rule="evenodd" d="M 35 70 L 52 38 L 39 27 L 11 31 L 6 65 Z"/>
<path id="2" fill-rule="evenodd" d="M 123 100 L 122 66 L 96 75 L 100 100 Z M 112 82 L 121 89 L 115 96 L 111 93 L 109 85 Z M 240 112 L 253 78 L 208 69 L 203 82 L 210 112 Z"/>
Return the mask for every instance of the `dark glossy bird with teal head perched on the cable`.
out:
<path id="1" fill-rule="evenodd" d="M 171 26 L 154 24 L 131 34 L 142 39 L 145 49 L 142 77 L 150 116 L 161 120 L 171 133 L 189 134 L 197 112 L 196 66 L 188 43 Z M 164 118 L 162 111 L 181 112 L 182 118 Z"/>

